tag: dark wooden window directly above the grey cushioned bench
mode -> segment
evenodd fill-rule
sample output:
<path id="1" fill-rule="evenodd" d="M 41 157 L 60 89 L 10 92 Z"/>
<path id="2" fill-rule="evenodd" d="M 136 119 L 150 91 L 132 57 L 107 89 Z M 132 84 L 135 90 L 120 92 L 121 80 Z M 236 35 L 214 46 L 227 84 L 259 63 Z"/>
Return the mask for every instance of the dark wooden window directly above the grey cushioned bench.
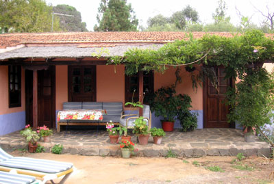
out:
<path id="1" fill-rule="evenodd" d="M 69 101 L 96 101 L 96 66 L 69 66 Z"/>

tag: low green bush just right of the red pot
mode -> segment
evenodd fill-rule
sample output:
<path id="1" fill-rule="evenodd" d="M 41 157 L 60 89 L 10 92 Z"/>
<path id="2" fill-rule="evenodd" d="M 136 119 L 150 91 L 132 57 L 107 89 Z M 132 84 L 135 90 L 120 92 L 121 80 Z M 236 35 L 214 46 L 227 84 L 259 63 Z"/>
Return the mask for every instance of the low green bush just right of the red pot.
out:
<path id="1" fill-rule="evenodd" d="M 192 114 L 189 110 L 187 110 L 179 113 L 177 118 L 181 124 L 182 131 L 194 131 L 197 129 L 197 114 Z"/>

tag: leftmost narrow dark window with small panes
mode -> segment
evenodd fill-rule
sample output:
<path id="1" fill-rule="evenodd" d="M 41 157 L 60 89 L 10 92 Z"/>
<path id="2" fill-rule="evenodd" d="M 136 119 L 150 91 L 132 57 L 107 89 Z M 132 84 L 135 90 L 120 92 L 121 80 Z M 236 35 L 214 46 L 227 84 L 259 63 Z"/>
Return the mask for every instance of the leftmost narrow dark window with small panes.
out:
<path id="1" fill-rule="evenodd" d="M 21 66 L 9 66 L 9 107 L 21 107 Z"/>

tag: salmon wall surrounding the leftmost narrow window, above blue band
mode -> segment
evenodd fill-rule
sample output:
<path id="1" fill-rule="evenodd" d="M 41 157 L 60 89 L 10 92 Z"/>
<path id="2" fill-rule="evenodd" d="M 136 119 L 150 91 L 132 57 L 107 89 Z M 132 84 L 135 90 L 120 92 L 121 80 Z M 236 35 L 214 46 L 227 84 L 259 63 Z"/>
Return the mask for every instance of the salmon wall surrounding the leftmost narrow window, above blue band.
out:
<path id="1" fill-rule="evenodd" d="M 25 70 L 21 70 L 21 107 L 9 107 L 8 103 L 8 66 L 0 66 L 0 115 L 25 111 Z"/>

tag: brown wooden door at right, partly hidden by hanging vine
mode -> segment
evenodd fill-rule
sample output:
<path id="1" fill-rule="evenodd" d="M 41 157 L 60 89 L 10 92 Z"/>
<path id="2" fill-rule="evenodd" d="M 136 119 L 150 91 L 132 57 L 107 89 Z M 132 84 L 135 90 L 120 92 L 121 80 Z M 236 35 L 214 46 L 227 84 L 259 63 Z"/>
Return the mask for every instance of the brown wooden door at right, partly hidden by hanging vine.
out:
<path id="1" fill-rule="evenodd" d="M 225 104 L 225 93 L 232 87 L 232 79 L 225 79 L 225 68 L 222 66 L 214 68 L 218 85 L 215 88 L 210 80 L 206 79 L 203 87 L 204 96 L 204 127 L 205 128 L 232 128 L 234 124 L 227 122 L 229 106 Z"/>

